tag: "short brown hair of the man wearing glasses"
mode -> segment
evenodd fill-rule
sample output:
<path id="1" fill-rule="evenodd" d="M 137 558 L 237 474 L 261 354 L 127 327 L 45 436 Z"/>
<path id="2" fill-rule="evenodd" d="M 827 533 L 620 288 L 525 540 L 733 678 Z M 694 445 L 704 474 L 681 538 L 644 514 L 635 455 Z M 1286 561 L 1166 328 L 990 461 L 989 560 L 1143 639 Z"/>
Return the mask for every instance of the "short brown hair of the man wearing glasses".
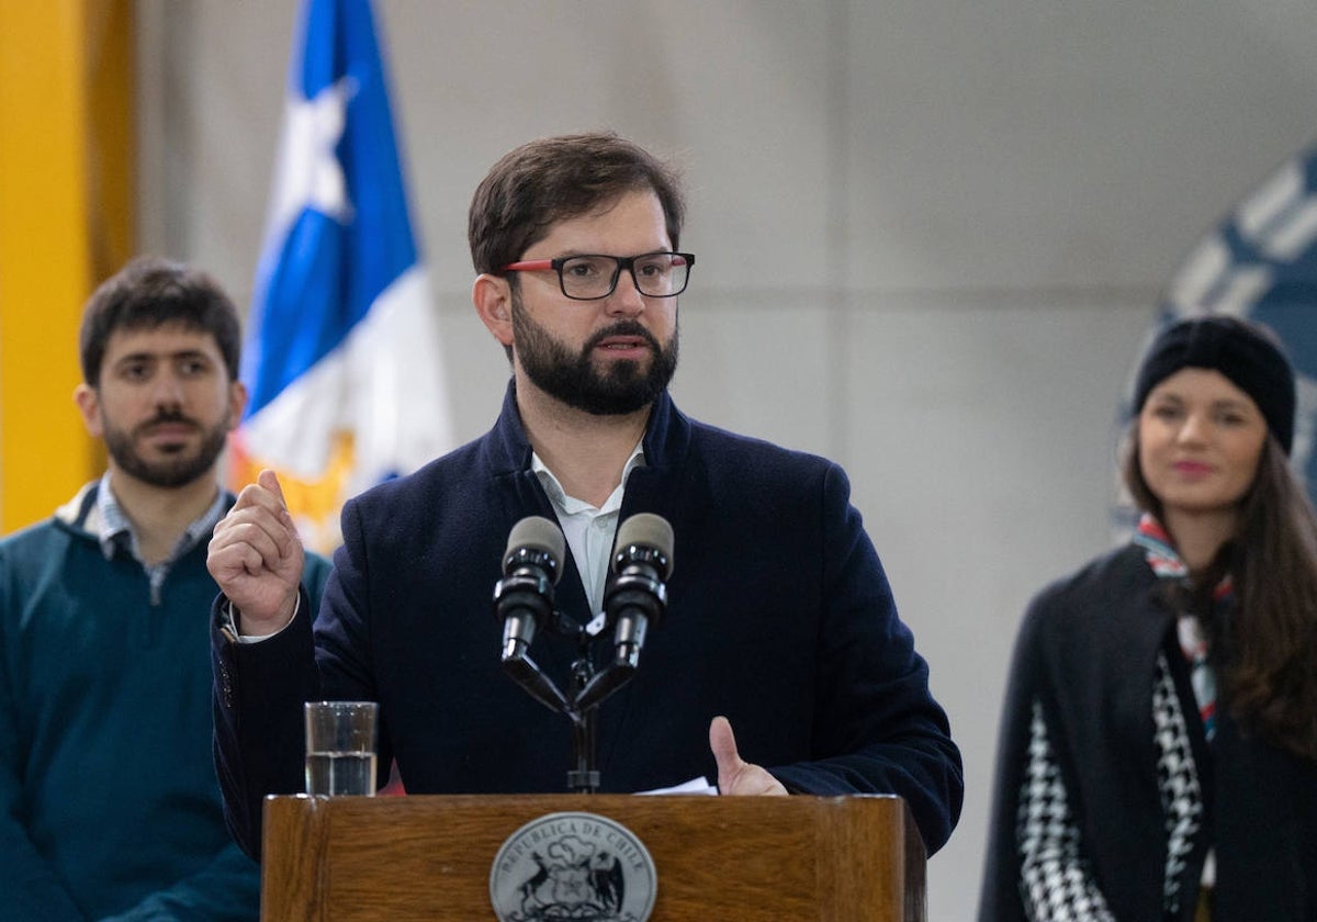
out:
<path id="1" fill-rule="evenodd" d="M 626 192 L 653 191 L 677 249 L 686 205 L 676 171 L 612 132 L 547 137 L 504 154 L 471 199 L 466 238 L 477 273 L 502 274 L 561 220 Z"/>

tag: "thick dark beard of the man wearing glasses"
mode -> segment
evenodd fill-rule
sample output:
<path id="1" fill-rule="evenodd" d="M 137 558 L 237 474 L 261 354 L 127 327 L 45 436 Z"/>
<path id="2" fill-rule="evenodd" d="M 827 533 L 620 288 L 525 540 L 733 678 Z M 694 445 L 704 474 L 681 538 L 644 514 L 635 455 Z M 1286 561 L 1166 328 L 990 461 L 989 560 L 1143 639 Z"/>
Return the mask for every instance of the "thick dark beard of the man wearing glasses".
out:
<path id="1" fill-rule="evenodd" d="M 514 294 L 512 335 L 516 357 L 527 377 L 540 390 L 569 407 L 595 416 L 633 414 L 648 407 L 662 394 L 677 371 L 680 332 L 676 325 L 672 341 L 664 348 L 636 320 L 619 320 L 591 336 L 581 353 L 573 356 L 566 345 L 531 319 L 522 299 Z M 626 360 L 608 362 L 607 371 L 597 370 L 591 357 L 599 342 L 610 336 L 643 339 L 652 353 L 649 369 L 643 371 L 640 362 Z"/>

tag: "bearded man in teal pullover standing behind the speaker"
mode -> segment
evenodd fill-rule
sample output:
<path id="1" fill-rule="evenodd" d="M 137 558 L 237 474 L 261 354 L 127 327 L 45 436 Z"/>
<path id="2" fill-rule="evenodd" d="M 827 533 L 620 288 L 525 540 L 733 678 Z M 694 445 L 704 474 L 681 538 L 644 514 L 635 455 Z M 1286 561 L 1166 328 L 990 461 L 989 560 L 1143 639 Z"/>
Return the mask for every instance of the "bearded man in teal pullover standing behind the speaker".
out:
<path id="1" fill-rule="evenodd" d="M 87 304 L 75 400 L 108 470 L 0 541 L 0 915 L 255 919 L 211 761 L 205 570 L 246 391 L 203 273 L 137 259 Z M 309 557 L 319 598 L 328 565 Z"/>

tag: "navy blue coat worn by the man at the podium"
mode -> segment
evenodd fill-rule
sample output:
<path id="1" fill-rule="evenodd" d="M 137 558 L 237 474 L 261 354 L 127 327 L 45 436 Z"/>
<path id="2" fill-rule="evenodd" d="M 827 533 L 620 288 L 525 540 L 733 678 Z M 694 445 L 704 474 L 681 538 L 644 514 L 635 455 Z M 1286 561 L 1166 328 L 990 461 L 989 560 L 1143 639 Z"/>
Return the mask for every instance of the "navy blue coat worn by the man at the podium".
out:
<path id="1" fill-rule="evenodd" d="M 602 792 L 716 778 L 709 722 L 789 789 L 896 793 L 928 851 L 960 814 L 960 753 L 882 565 L 826 460 L 694 423 L 664 394 L 622 520 L 672 523 L 668 614 L 598 711 Z M 565 792 L 570 723 L 499 665 L 491 609 L 512 526 L 554 518 L 508 389 L 494 429 L 350 501 L 315 626 L 261 644 L 216 631 L 216 755 L 230 828 L 255 855 L 261 797 L 303 789 L 302 702 L 381 705 L 381 765 L 410 793 Z M 569 560 L 557 607 L 586 619 Z M 610 644 L 601 644 L 607 647 Z M 576 641 L 531 651 L 560 688 Z"/>

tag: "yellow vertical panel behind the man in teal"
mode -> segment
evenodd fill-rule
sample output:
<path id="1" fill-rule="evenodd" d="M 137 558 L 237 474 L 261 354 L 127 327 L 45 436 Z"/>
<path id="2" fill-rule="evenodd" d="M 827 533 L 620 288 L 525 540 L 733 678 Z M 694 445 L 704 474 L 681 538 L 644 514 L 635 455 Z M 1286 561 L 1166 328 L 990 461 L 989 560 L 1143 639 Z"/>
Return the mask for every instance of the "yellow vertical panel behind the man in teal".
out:
<path id="1" fill-rule="evenodd" d="M 0 0 L 0 532 L 100 468 L 78 323 L 132 249 L 130 4 Z"/>

